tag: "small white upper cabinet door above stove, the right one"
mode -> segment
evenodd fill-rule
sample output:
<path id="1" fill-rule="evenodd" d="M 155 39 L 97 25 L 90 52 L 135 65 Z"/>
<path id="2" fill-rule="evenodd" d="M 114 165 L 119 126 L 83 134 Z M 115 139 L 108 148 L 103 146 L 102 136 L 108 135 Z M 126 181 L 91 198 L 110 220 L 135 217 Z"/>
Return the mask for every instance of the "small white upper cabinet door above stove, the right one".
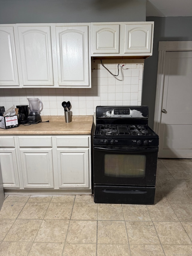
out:
<path id="1" fill-rule="evenodd" d="M 152 55 L 153 24 L 125 24 L 124 31 L 124 53 Z"/>

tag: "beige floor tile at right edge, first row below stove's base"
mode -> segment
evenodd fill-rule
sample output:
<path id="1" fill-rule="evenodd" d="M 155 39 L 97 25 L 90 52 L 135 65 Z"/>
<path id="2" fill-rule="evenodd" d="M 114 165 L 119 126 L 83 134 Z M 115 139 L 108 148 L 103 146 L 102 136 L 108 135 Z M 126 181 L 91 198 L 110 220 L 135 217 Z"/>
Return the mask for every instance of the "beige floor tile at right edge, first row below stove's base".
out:
<path id="1" fill-rule="evenodd" d="M 172 208 L 180 221 L 192 221 L 192 204 L 173 204 Z"/>

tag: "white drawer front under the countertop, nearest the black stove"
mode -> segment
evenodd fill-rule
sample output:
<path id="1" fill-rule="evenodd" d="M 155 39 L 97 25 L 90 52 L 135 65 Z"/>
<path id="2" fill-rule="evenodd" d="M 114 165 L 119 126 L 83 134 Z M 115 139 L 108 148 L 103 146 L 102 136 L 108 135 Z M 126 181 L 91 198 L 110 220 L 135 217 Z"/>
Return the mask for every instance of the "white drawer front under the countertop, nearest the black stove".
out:
<path id="1" fill-rule="evenodd" d="M 57 147 L 88 147 L 88 136 L 58 136 L 56 137 Z"/>

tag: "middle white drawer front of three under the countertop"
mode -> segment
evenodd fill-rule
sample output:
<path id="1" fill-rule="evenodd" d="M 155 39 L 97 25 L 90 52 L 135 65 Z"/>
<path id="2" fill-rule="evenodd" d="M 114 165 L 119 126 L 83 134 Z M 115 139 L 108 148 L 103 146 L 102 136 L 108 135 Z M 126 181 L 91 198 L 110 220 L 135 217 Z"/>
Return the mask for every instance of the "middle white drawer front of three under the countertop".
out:
<path id="1" fill-rule="evenodd" d="M 19 147 L 52 147 L 51 136 L 19 136 Z"/>

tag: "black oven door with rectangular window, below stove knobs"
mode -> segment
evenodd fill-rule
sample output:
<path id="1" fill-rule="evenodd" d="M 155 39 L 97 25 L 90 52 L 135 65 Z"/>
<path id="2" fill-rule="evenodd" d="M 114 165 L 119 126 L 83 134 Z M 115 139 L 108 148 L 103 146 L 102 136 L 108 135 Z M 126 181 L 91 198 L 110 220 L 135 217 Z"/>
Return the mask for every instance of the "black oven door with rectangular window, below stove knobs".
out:
<path id="1" fill-rule="evenodd" d="M 94 184 L 155 186 L 158 147 L 94 146 Z"/>

